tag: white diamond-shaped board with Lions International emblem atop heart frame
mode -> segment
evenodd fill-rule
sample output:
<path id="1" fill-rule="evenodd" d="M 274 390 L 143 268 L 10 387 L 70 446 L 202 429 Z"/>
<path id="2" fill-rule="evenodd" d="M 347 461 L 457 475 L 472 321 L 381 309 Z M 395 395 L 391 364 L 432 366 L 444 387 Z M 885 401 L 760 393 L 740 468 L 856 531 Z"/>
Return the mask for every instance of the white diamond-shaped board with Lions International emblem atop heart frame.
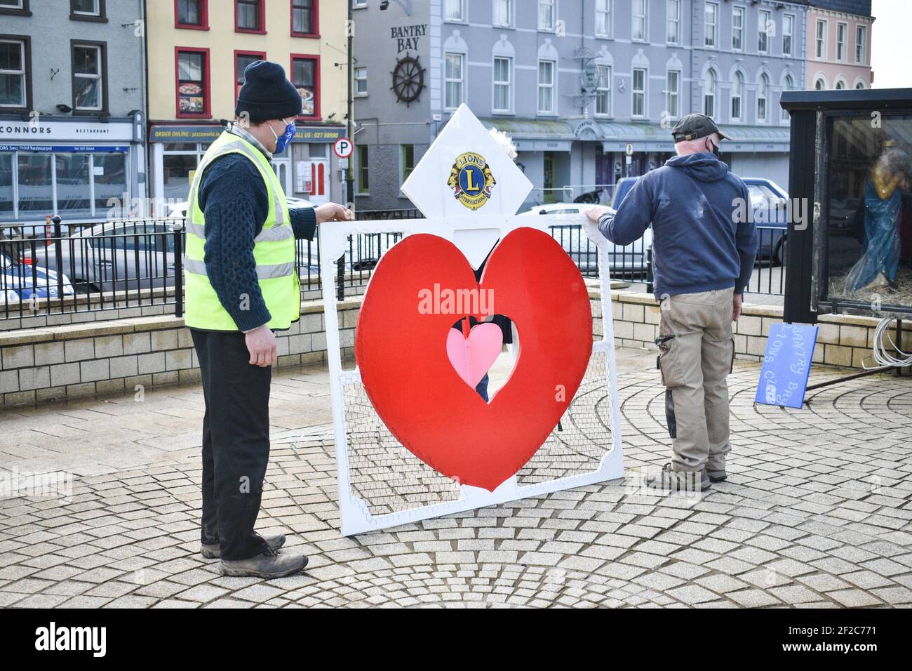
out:
<path id="1" fill-rule="evenodd" d="M 433 216 L 513 216 L 532 183 L 465 103 L 402 184 L 402 193 Z"/>

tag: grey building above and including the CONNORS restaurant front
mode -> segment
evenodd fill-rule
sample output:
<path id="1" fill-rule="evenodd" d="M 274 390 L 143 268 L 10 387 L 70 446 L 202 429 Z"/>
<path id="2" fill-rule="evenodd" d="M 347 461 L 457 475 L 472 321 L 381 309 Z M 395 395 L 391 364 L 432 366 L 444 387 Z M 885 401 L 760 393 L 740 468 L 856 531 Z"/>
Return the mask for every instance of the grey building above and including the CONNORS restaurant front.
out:
<path id="1" fill-rule="evenodd" d="M 0 224 L 141 208 L 142 16 L 140 0 L 0 0 Z"/>

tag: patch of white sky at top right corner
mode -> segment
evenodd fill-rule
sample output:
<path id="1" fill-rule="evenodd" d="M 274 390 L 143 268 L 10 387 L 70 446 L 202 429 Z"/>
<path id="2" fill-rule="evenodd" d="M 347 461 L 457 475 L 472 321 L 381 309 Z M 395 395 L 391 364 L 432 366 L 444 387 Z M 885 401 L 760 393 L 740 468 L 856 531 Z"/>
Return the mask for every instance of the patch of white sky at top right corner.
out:
<path id="1" fill-rule="evenodd" d="M 912 2 L 873 0 L 871 68 L 875 89 L 912 89 Z"/>

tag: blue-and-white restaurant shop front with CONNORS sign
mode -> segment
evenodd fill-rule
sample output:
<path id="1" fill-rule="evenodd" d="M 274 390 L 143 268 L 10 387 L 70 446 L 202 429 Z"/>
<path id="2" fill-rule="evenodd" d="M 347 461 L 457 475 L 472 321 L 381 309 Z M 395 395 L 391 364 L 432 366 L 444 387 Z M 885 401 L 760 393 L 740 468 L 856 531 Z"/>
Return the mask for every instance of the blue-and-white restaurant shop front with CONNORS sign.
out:
<path id="1" fill-rule="evenodd" d="M 0 117 L 0 225 L 120 218 L 145 197 L 140 114 L 130 119 Z"/>

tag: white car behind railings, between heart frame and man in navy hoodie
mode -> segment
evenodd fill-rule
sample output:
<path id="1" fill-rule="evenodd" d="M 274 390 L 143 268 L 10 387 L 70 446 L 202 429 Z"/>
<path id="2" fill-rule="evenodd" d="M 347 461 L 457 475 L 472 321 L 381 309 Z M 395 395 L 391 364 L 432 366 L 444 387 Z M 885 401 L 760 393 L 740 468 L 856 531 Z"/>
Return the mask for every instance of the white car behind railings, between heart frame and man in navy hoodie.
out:
<path id="1" fill-rule="evenodd" d="M 521 215 L 581 215 L 589 205 L 577 203 L 554 203 L 536 205 Z M 583 226 L 580 224 L 560 224 L 551 226 L 551 234 L 564 247 L 566 253 L 583 272 L 594 272 L 597 269 L 597 248 L 589 241 Z M 646 272 L 648 267 L 648 249 L 652 247 L 652 229 L 646 229 L 641 240 L 626 246 L 608 243 L 608 263 L 611 275 L 638 274 Z"/>

